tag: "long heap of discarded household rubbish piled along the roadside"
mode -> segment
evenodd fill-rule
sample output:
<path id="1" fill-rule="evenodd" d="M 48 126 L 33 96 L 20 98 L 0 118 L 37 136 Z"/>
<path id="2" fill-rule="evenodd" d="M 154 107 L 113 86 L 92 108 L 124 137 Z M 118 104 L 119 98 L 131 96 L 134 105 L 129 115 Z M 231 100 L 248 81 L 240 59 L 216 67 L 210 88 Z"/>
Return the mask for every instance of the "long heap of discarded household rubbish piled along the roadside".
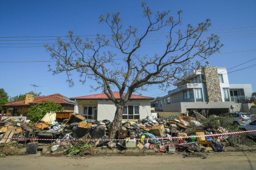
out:
<path id="1" fill-rule="evenodd" d="M 63 114 L 63 113 L 62 113 Z M 182 139 L 152 139 L 178 136 L 207 135 L 221 133 L 220 129 L 211 130 L 198 121 L 198 118 L 171 116 L 156 118 L 151 115 L 140 120 L 130 120 L 122 123 L 116 135 L 116 140 L 96 141 L 62 141 L 60 139 L 110 139 L 109 132 L 112 122 L 109 120 L 86 120 L 79 114 L 69 114 L 67 119 L 58 119 L 58 113 L 47 113 L 46 116 L 32 124 L 30 120 L 14 121 L 9 118 L 0 122 L 0 137 L 18 139 L 0 139 L 0 143 L 15 143 L 26 147 L 26 154 L 35 154 L 38 149 L 47 153 L 62 150 L 63 154 L 92 155 L 92 149 L 138 148 L 153 149 L 155 152 L 221 152 L 228 146 L 228 136 L 192 137 Z M 202 118 L 201 116 L 199 116 Z M 206 118 L 205 118 L 206 119 Z M 33 140 L 28 140 L 33 139 Z M 36 140 L 43 139 L 43 140 Z M 48 139 L 48 140 L 47 140 Z M 52 140 L 54 139 L 54 140 Z M 113 138 L 114 139 L 114 138 Z"/>

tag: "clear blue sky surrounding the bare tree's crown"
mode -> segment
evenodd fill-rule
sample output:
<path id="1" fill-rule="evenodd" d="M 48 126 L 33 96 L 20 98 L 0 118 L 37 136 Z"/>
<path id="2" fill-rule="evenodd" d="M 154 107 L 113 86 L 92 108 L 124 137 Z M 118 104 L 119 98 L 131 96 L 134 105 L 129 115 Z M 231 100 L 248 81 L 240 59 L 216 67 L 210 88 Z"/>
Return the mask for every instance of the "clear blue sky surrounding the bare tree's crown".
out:
<path id="1" fill-rule="evenodd" d="M 177 16 L 178 10 L 183 10 L 182 22 L 184 25 L 197 24 L 210 18 L 212 27 L 210 29 L 220 29 L 208 32 L 220 32 L 221 43 L 224 47 L 220 52 L 232 52 L 214 54 L 207 61 L 210 66 L 226 67 L 227 69 L 256 58 L 256 51 L 235 52 L 256 49 L 256 10 L 255 0 L 248 1 L 205 1 L 205 0 L 163 0 L 146 1 L 153 12 L 157 10 L 171 10 L 171 15 Z M 47 38 L 21 38 L 21 36 L 64 36 L 69 30 L 75 35 L 96 35 L 110 34 L 110 30 L 105 24 L 99 24 L 100 14 L 115 13 L 119 10 L 123 18 L 124 25 L 132 25 L 145 30 L 146 20 L 142 17 L 141 1 L 139 0 L 111 0 L 111 1 L 84 1 L 84 0 L 10 0 L 0 1 L 0 61 L 48 61 L 49 52 L 44 47 L 23 47 L 17 46 L 42 46 L 42 45 L 14 45 L 15 43 L 53 43 L 55 39 Z M 239 28 L 248 27 L 248 28 Z M 240 38 L 231 38 L 240 37 Z M 3 41 L 3 40 L 25 40 L 36 39 L 37 41 Z M 8 44 L 9 43 L 9 44 Z M 159 52 L 164 44 L 143 45 L 140 50 L 144 55 Z M 15 47 L 13 47 L 15 46 Z M 78 82 L 78 74 L 73 74 L 75 87 L 70 88 L 66 83 L 66 75 L 59 74 L 53 76 L 48 72 L 49 62 L 0 62 L 1 81 L 0 88 L 10 95 L 25 94 L 35 90 L 30 84 L 36 84 L 36 92 L 43 95 L 55 93 L 63 94 L 67 97 L 77 97 L 89 94 L 101 93 L 89 92 L 90 84 L 95 82 L 88 80 L 82 85 Z M 204 63 L 203 63 L 204 64 Z M 248 62 L 228 72 L 235 71 L 246 66 L 256 64 L 256 60 Z M 228 74 L 229 83 L 250 83 L 252 89 L 256 91 L 255 68 L 242 69 Z M 172 89 L 167 89 L 172 90 Z M 148 91 L 142 91 L 145 96 L 153 96 L 163 92 L 156 85 L 148 87 Z M 135 93 L 136 94 L 136 93 Z M 157 96 L 157 95 L 156 95 Z M 153 97 L 156 97 L 153 96 Z"/>

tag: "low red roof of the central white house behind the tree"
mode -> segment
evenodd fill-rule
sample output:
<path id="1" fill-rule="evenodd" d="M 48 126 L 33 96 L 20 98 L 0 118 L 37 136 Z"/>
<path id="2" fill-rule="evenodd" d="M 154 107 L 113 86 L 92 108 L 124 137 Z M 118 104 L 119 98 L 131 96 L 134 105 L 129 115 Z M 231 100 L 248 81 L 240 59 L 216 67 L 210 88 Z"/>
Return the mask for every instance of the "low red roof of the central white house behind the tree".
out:
<path id="1" fill-rule="evenodd" d="M 120 99 L 120 94 L 117 91 L 113 91 L 114 97 L 116 99 Z M 125 95 L 126 93 L 124 93 Z M 71 97 L 71 100 L 75 99 L 108 99 L 107 95 L 104 93 L 101 94 L 92 94 L 92 95 L 87 95 L 87 96 L 80 96 L 80 97 Z M 154 99 L 154 97 L 146 97 L 146 96 L 139 96 L 132 94 L 130 99 Z"/>

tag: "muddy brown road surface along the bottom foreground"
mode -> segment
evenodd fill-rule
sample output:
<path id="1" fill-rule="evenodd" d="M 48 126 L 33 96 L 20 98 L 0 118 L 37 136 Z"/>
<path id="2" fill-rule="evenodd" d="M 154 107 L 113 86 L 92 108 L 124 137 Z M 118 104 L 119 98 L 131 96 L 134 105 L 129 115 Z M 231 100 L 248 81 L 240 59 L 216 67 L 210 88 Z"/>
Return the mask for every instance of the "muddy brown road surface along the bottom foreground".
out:
<path id="1" fill-rule="evenodd" d="M 188 156 L 188 155 L 187 155 Z M 256 169 L 256 151 L 208 153 L 199 157 L 185 155 L 151 156 L 94 156 L 94 157 L 47 157 L 47 156 L 6 156 L 0 158 L 0 169 L 10 170 L 126 170 L 126 169 L 202 169 L 230 170 Z"/>

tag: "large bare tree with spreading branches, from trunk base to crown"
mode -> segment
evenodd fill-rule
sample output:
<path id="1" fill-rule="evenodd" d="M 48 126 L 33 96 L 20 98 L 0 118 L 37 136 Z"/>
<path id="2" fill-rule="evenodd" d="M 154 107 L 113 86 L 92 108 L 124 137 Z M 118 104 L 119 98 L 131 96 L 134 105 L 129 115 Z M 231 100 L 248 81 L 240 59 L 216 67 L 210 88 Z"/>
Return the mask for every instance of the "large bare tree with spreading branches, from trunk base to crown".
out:
<path id="1" fill-rule="evenodd" d="M 142 3 L 142 9 L 149 23 L 143 34 L 137 33 L 137 29 L 132 26 L 124 29 L 120 13 L 117 12 L 100 15 L 100 23 L 109 26 L 111 38 L 97 35 L 94 40 L 84 40 L 69 31 L 68 42 L 58 37 L 57 45 L 45 45 L 52 59 L 57 60 L 54 67 L 49 65 L 53 74 L 67 73 L 69 85 L 74 86 L 71 72 L 76 71 L 82 83 L 85 83 L 86 78 L 95 80 L 97 86 L 92 86 L 92 89 L 103 90 L 114 102 L 117 109 L 110 136 L 114 136 L 120 127 L 124 106 L 135 90 L 145 90 L 151 84 L 167 87 L 175 80 L 183 80 L 189 71 L 200 66 L 198 61 L 191 61 L 193 58 L 198 56 L 206 59 L 222 46 L 217 35 L 210 35 L 206 40 L 201 38 L 211 25 L 210 19 L 196 27 L 188 24 L 185 31 L 181 31 L 178 28 L 181 27 L 182 11 L 178 11 L 178 19 L 174 20 L 174 17 L 169 16 L 170 11 L 157 11 L 153 15 L 146 3 Z M 168 29 L 168 42 L 161 54 L 140 57 L 136 52 L 144 45 L 142 42 L 148 35 L 163 28 Z M 177 37 L 175 41 L 173 36 Z M 117 58 L 117 54 L 107 50 L 111 48 L 119 50 L 125 58 Z M 114 88 L 119 90 L 120 99 L 114 97 Z"/>

